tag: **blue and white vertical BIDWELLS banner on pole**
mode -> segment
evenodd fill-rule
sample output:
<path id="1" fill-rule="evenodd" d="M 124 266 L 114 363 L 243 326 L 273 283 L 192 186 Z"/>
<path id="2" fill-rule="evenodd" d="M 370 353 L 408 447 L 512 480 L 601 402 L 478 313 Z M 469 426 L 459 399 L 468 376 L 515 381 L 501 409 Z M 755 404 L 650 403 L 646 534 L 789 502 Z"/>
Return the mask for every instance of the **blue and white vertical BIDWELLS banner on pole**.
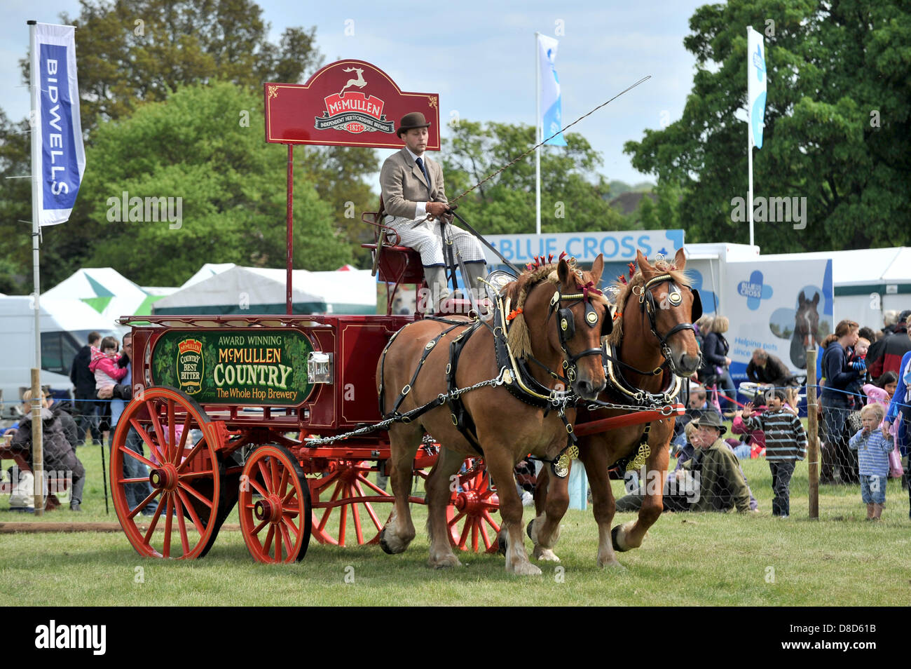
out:
<path id="1" fill-rule="evenodd" d="M 69 219 L 86 170 L 79 120 L 79 87 L 76 77 L 76 28 L 35 26 L 32 53 L 33 86 L 39 87 L 32 119 L 32 141 L 37 142 L 37 211 L 40 225 Z"/>

